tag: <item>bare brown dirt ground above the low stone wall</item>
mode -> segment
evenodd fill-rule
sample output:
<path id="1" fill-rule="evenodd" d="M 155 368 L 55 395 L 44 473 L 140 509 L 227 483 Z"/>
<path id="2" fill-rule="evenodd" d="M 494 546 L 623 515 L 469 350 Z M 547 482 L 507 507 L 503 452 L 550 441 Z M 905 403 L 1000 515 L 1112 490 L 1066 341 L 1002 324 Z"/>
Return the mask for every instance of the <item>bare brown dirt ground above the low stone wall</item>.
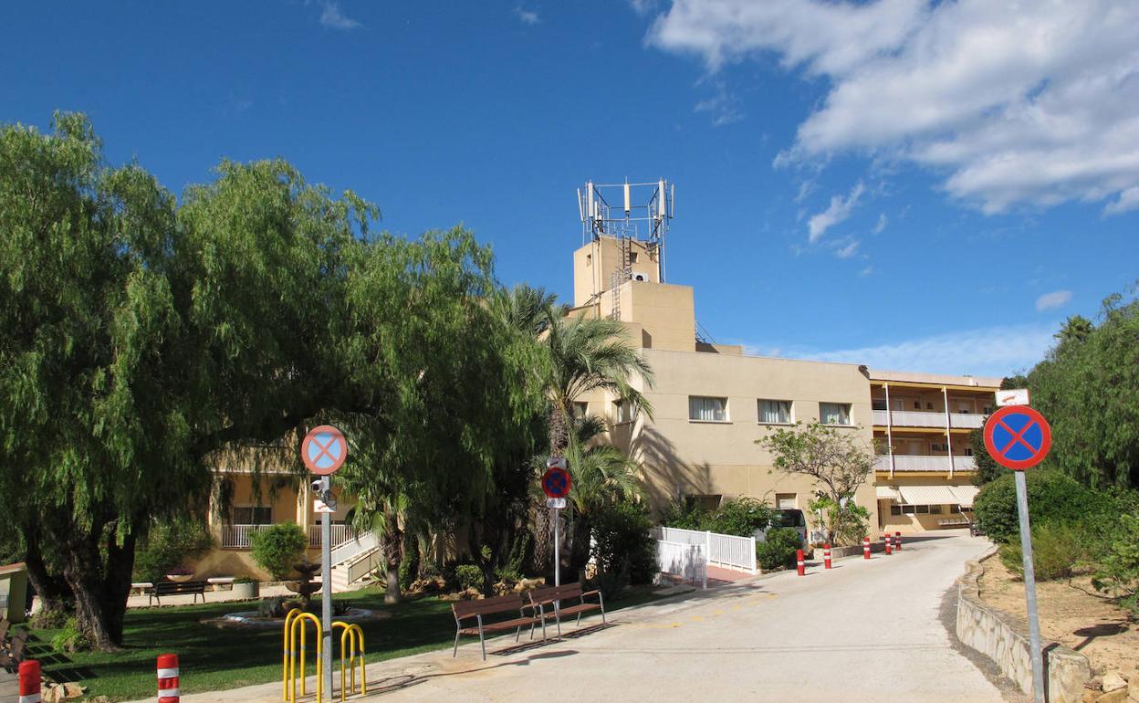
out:
<path id="1" fill-rule="evenodd" d="M 981 599 L 1006 613 L 1026 618 L 1024 583 L 1000 559 L 981 563 Z M 1088 657 L 1097 676 L 1139 672 L 1139 622 L 1099 596 L 1089 577 L 1036 583 L 1040 632 Z"/>

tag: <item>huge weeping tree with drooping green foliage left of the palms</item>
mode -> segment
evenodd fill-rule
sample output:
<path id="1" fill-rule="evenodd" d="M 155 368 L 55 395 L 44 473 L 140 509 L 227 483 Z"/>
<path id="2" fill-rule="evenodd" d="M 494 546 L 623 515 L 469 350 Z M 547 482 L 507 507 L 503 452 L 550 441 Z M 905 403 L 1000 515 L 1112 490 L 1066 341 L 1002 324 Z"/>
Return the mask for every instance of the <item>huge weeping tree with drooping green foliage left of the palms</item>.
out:
<path id="1" fill-rule="evenodd" d="M 223 162 L 179 204 L 81 115 L 0 128 L 0 493 L 46 607 L 73 599 L 96 647 L 122 643 L 136 545 L 207 500 L 219 449 L 359 418 L 390 512 L 404 485 L 485 494 L 525 415 L 483 327 L 490 254 L 378 215 L 281 161 Z"/>

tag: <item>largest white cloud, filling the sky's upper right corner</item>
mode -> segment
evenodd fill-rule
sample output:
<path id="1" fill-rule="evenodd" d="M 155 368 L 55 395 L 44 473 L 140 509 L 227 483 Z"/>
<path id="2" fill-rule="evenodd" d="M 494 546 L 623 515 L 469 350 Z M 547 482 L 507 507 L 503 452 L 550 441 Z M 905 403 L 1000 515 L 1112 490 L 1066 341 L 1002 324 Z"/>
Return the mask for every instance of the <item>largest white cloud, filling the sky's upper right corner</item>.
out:
<path id="1" fill-rule="evenodd" d="M 1139 207 L 1134 0 L 673 0 L 647 42 L 827 79 L 777 166 L 855 150 L 944 174 L 989 213 Z"/>

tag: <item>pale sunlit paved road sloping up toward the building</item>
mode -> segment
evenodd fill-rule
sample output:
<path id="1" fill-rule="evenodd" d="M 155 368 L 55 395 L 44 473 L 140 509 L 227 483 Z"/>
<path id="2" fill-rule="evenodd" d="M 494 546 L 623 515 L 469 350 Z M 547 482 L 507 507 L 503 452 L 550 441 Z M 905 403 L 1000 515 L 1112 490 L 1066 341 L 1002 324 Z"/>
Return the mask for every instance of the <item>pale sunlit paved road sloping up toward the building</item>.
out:
<path id="1" fill-rule="evenodd" d="M 499 638 L 486 663 L 477 641 L 466 639 L 458 659 L 448 651 L 369 667 L 369 688 L 383 689 L 377 701 L 432 703 L 995 703 L 997 688 L 953 651 L 939 621 L 942 595 L 986 546 L 969 537 L 910 542 L 901 554 L 845 558 L 805 578 L 781 573 L 685 603 L 621 611 L 608 629 L 546 646 L 509 652 L 513 637 Z M 273 687 L 265 690 L 272 700 Z M 183 701 L 253 701 L 253 694 Z"/>

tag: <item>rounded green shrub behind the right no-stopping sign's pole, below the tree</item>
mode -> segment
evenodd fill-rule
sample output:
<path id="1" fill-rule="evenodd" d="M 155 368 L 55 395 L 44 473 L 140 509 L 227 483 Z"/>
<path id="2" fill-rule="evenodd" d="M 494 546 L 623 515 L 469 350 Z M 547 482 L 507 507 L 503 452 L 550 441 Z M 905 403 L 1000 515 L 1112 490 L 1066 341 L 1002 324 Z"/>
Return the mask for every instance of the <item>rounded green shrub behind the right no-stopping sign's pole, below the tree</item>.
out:
<path id="1" fill-rule="evenodd" d="M 1056 471 L 1029 472 L 1029 517 L 1043 524 L 1087 524 L 1118 509 L 1113 493 L 1096 491 Z M 977 525 L 994 542 L 1017 539 L 1016 484 L 1011 474 L 988 483 L 977 493 L 973 510 Z"/>

